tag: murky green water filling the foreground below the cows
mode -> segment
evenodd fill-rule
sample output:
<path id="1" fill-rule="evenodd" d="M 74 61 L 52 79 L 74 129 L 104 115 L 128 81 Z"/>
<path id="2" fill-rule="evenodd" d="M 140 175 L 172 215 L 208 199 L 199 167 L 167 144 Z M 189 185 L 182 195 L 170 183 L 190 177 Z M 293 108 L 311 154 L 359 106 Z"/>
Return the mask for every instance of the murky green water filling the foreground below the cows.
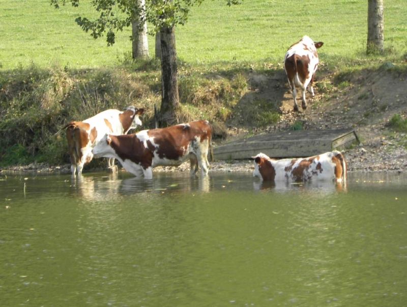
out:
<path id="1" fill-rule="evenodd" d="M 405 174 L 0 180 L 0 306 L 407 305 Z"/>

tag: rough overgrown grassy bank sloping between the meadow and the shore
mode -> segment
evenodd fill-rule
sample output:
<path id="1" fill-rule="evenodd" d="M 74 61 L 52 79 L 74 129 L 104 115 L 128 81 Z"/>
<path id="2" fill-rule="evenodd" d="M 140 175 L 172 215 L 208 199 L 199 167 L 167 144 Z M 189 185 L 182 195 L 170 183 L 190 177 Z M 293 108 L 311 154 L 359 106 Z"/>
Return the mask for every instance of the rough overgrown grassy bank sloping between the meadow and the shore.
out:
<path id="1" fill-rule="evenodd" d="M 403 58 L 396 64 L 389 63 L 375 60 L 369 65 L 377 71 L 405 73 Z M 315 106 L 335 97 L 337 93 L 333 88 L 343 95 L 346 87 L 351 86 L 347 81 L 349 76 L 357 72 L 357 66 L 343 70 L 324 66 L 318 74 L 326 77 L 316 84 L 323 98 L 316 101 Z M 243 67 L 234 63 L 212 67 L 181 63 L 181 107 L 178 110 L 181 120 L 208 119 L 219 136 L 224 134 L 225 124 L 232 119 L 236 123 L 236 118 L 238 125 L 250 129 L 273 125 L 280 116 L 279 102 L 255 98 L 249 104 L 242 103 L 245 96 L 255 94 L 253 75 L 281 78 L 284 71 L 264 63 Z M 278 81 L 281 85 L 283 82 Z M 69 163 L 65 132 L 54 135 L 67 122 L 83 120 L 109 108 L 134 105 L 146 110 L 143 129 L 153 128 L 154 104 L 159 108 L 161 100 L 160 69 L 156 60 L 98 69 L 32 65 L 0 72 L 0 88 L 0 167 L 34 161 L 51 165 Z M 396 124 L 403 128 L 405 121 L 402 120 L 398 118 Z"/>

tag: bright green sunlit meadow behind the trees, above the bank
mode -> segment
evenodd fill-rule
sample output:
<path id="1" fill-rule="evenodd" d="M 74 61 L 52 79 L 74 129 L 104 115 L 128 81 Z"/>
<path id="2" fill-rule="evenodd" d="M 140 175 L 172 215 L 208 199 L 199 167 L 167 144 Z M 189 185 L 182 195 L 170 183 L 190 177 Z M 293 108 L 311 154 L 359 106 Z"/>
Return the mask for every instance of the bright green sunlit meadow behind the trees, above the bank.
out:
<path id="1" fill-rule="evenodd" d="M 386 0 L 385 47 L 390 54 L 407 51 L 405 0 Z M 114 46 L 94 40 L 74 22 L 96 16 L 90 1 L 55 10 L 48 0 L 2 1 L 0 65 L 14 69 L 114 66 L 131 51 L 130 29 L 119 33 Z M 218 62 L 281 62 L 285 50 L 303 35 L 325 43 L 322 60 L 364 58 L 367 37 L 366 0 L 244 0 L 227 7 L 207 0 L 191 9 L 185 26 L 176 31 L 177 53 L 191 64 Z M 149 37 L 154 54 L 154 37 Z"/>

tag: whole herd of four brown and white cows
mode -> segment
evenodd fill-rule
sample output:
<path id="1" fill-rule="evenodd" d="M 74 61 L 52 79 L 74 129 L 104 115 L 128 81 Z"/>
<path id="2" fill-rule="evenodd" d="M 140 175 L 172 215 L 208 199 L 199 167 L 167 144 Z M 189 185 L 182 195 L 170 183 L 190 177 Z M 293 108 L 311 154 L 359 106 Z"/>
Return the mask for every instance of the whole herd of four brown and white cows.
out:
<path id="1" fill-rule="evenodd" d="M 306 109 L 305 91 L 310 85 L 314 96 L 313 81 L 318 67 L 316 49 L 322 42 L 313 42 L 304 36 L 290 46 L 284 56 L 284 69 L 294 98 L 294 110 L 298 111 L 296 86 L 301 88 L 302 108 Z M 123 168 L 135 176 L 152 179 L 157 166 L 179 166 L 189 159 L 191 175 L 201 169 L 208 175 L 212 154 L 212 127 L 208 120 L 190 121 L 167 128 L 142 130 L 127 134 L 141 126 L 139 115 L 143 109 L 133 106 L 124 111 L 106 110 L 83 121 L 71 121 L 66 129 L 72 174 L 80 175 L 85 163 L 93 157 L 108 158 L 108 167 L 117 159 Z M 112 160 L 113 159 L 113 160 Z M 346 162 L 339 151 L 303 159 L 269 158 L 264 153 L 252 157 L 253 176 L 261 180 L 302 182 L 310 180 L 346 181 Z"/>

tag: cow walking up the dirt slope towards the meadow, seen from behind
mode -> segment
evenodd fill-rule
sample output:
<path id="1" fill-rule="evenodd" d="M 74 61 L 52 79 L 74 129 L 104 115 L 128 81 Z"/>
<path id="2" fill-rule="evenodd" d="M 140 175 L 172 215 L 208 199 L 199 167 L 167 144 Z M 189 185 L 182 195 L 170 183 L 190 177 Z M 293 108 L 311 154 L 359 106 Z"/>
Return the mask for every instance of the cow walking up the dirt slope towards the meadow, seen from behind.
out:
<path id="1" fill-rule="evenodd" d="M 321 48 L 323 42 L 313 42 L 308 36 L 304 36 L 299 42 L 290 46 L 284 56 L 284 70 L 287 74 L 288 85 L 294 98 L 294 111 L 298 111 L 296 86 L 301 88 L 302 108 L 307 108 L 305 91 L 308 84 L 309 92 L 314 97 L 315 72 L 318 68 L 318 54 L 316 49 Z"/>

